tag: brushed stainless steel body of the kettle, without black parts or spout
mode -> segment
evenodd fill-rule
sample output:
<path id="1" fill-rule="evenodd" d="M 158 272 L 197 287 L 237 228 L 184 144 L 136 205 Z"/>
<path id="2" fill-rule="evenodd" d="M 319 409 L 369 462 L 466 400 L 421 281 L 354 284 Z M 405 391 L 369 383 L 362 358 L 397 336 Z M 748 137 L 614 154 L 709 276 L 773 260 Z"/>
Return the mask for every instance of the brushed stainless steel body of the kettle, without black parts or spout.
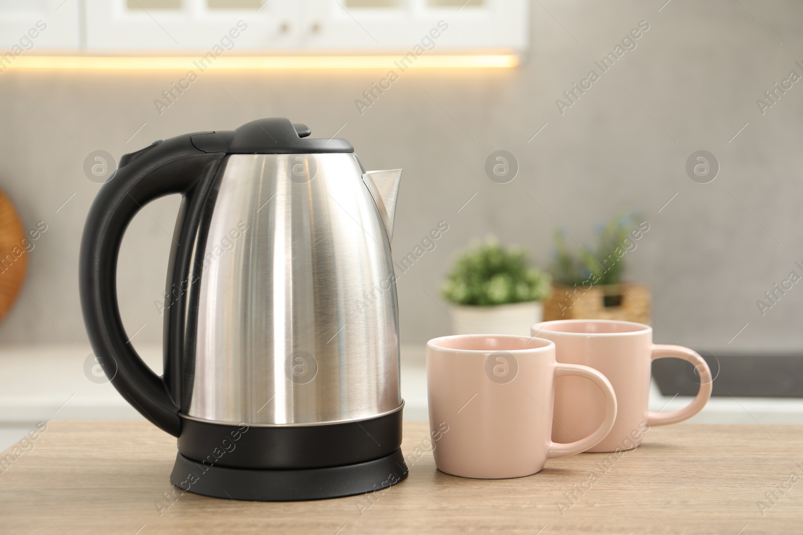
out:
<path id="1" fill-rule="evenodd" d="M 393 262 L 357 156 L 233 154 L 219 174 L 188 292 L 186 415 L 314 424 L 400 409 Z"/>

